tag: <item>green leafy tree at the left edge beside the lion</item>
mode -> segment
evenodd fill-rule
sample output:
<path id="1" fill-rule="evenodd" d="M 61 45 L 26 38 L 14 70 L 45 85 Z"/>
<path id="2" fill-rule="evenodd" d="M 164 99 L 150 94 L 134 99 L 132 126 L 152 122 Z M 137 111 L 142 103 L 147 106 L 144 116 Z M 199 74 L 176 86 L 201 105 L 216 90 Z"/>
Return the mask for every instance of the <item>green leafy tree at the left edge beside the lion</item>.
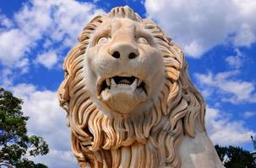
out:
<path id="1" fill-rule="evenodd" d="M 25 168 L 44 168 L 35 164 L 29 156 L 46 155 L 48 144 L 38 136 L 27 135 L 29 119 L 21 111 L 22 100 L 0 87 L 0 165 Z"/>

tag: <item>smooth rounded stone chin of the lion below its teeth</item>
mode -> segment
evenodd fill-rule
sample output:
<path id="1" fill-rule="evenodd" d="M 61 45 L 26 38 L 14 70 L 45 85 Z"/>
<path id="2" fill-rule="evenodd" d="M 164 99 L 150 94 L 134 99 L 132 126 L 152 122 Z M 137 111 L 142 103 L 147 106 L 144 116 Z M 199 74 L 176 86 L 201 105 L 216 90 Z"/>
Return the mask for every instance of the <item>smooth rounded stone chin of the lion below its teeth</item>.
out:
<path id="1" fill-rule="evenodd" d="M 133 92 L 128 88 L 106 89 L 101 92 L 101 101 L 116 113 L 128 116 L 140 102 L 144 102 L 146 94 L 144 92 Z"/>

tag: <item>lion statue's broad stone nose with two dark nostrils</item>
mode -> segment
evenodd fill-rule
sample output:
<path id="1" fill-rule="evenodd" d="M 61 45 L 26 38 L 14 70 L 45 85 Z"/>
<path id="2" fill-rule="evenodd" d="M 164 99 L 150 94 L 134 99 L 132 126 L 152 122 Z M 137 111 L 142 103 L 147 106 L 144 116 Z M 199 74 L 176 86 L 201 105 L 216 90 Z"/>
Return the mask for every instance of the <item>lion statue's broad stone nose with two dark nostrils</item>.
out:
<path id="1" fill-rule="evenodd" d="M 139 55 L 139 50 L 136 45 L 129 43 L 116 43 L 113 44 L 109 53 L 116 59 L 134 59 Z"/>

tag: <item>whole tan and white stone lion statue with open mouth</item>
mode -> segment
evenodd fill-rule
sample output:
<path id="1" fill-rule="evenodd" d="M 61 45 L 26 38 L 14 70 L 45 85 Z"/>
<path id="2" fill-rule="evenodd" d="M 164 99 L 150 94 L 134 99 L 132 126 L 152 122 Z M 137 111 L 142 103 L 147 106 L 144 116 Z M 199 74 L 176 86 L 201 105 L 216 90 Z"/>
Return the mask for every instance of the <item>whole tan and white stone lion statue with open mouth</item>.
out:
<path id="1" fill-rule="evenodd" d="M 57 94 L 81 167 L 223 167 L 182 50 L 153 21 L 117 7 L 68 52 Z"/>

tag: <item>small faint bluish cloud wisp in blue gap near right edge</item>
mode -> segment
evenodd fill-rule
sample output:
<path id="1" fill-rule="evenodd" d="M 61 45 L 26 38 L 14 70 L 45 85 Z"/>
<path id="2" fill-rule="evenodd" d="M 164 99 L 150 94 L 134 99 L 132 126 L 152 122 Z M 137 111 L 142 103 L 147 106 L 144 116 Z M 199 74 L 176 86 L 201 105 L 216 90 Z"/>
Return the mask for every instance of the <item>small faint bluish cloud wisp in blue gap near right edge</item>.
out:
<path id="1" fill-rule="evenodd" d="M 238 69 L 242 66 L 244 56 L 238 49 L 236 49 L 235 52 L 236 55 L 227 56 L 225 60 L 229 66 Z"/>

